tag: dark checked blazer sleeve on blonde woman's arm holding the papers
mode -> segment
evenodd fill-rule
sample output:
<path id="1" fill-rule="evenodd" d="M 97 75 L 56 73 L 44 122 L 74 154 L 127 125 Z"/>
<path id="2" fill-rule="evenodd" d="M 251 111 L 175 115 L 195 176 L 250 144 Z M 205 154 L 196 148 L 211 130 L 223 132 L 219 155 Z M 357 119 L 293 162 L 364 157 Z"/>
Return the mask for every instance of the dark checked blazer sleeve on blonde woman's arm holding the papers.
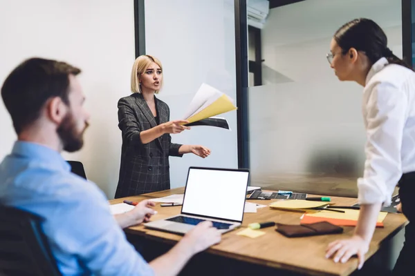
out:
<path id="1" fill-rule="evenodd" d="M 142 145 L 140 125 L 133 113 L 133 108 L 126 99 L 118 101 L 118 128 L 122 132 L 122 142 L 136 146 Z"/>

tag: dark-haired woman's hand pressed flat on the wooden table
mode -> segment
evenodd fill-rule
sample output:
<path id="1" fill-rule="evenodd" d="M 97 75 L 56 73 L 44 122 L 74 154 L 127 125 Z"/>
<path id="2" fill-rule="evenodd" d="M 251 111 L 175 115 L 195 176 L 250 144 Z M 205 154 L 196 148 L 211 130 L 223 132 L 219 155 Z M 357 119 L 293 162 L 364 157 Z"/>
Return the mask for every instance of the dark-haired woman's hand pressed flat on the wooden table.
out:
<path id="1" fill-rule="evenodd" d="M 338 239 L 327 246 L 326 258 L 333 257 L 333 261 L 347 262 L 351 256 L 358 255 L 358 269 L 365 263 L 365 254 L 369 250 L 369 243 L 358 235 L 350 239 Z"/>

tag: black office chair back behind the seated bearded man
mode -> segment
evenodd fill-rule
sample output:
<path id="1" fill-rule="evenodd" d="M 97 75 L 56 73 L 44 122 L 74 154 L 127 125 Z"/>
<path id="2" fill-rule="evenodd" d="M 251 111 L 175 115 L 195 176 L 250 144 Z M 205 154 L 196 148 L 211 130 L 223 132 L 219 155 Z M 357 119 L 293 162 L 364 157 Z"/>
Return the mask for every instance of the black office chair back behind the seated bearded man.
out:
<path id="1" fill-rule="evenodd" d="M 58 276 L 37 215 L 0 206 L 0 275 Z"/>

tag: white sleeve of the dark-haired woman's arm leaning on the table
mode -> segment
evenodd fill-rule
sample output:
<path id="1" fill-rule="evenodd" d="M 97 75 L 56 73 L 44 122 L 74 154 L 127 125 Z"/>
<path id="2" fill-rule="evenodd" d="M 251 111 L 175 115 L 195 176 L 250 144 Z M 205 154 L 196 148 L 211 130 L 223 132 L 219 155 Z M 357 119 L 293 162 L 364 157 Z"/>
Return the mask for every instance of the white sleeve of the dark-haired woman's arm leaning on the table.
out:
<path id="1" fill-rule="evenodd" d="M 363 115 L 367 143 L 365 172 L 358 179 L 360 204 L 391 204 L 402 175 L 401 147 L 407 96 L 391 83 L 375 83 L 365 90 Z"/>

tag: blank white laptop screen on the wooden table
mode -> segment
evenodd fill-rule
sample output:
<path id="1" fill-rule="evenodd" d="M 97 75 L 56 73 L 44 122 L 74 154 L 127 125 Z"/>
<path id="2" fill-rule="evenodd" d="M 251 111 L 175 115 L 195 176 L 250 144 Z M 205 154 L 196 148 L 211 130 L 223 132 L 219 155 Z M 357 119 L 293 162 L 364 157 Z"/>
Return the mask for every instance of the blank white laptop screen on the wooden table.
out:
<path id="1" fill-rule="evenodd" d="M 182 213 L 242 221 L 248 170 L 190 168 Z"/>

